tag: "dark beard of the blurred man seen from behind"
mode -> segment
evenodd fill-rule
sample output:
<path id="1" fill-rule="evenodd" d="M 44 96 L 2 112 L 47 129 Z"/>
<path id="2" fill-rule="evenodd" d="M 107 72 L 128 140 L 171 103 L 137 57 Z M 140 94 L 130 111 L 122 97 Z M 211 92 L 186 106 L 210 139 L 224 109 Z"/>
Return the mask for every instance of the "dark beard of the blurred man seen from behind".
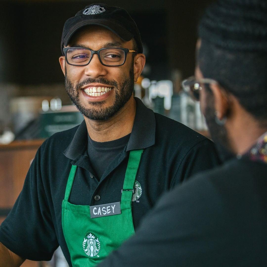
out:
<path id="1" fill-rule="evenodd" d="M 213 96 L 208 94 L 206 98 L 205 119 L 209 128 L 210 136 L 217 148 L 220 159 L 224 162 L 233 158 L 235 155 L 231 151 L 231 146 L 225 125 L 216 123 Z"/>

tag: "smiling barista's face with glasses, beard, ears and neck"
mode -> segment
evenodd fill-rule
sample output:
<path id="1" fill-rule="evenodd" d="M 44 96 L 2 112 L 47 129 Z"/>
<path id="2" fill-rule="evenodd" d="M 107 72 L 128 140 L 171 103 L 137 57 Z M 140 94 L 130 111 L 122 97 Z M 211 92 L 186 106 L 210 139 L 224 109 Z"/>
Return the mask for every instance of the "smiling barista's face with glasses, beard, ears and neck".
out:
<path id="1" fill-rule="evenodd" d="M 123 41 L 100 26 L 85 26 L 77 30 L 68 47 L 63 49 L 65 56 L 60 57 L 66 91 L 85 116 L 87 127 L 116 115 L 112 124 L 116 122 L 115 127 L 117 123 L 122 127 L 121 136 L 116 138 L 125 135 L 124 127 L 129 128 L 127 133 L 131 132 L 132 125 L 127 125 L 127 121 L 133 121 L 135 116 L 133 85 L 145 64 L 144 54 L 133 49 L 137 50 L 135 41 Z M 112 133 L 110 129 L 109 132 Z M 101 135 L 96 139 L 110 140 L 109 134 Z"/>

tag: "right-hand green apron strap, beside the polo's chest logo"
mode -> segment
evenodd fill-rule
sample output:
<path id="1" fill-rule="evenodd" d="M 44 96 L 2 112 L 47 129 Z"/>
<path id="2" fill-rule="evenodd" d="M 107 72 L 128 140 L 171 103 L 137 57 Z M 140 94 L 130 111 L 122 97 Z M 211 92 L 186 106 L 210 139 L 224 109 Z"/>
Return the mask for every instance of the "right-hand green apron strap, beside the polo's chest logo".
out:
<path id="1" fill-rule="evenodd" d="M 143 149 L 130 151 L 128 165 L 125 173 L 121 201 L 132 201 L 132 194 L 136 174 L 139 168 Z"/>

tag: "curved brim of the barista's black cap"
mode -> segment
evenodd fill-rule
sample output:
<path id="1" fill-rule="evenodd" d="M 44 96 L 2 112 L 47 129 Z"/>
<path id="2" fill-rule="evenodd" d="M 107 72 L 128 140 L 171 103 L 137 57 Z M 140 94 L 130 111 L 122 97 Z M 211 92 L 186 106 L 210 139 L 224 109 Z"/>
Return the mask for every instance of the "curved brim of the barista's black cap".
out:
<path id="1" fill-rule="evenodd" d="M 133 38 L 132 33 L 130 33 L 128 30 L 126 30 L 124 27 L 120 26 L 116 22 L 104 19 L 91 19 L 75 24 L 64 37 L 63 39 L 64 46 L 67 46 L 69 44 L 70 38 L 73 36 L 75 32 L 77 32 L 78 29 L 88 25 L 98 25 L 108 30 L 111 30 L 113 33 L 115 33 L 124 41 L 130 41 Z"/>

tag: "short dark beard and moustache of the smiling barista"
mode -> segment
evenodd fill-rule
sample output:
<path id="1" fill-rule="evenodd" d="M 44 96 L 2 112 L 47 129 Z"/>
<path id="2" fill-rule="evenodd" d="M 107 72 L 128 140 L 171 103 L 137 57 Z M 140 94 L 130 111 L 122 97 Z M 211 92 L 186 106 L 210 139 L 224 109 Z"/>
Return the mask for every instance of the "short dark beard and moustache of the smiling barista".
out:
<path id="1" fill-rule="evenodd" d="M 65 88 L 73 104 L 77 109 L 90 120 L 108 120 L 114 116 L 124 105 L 128 102 L 133 93 L 134 87 L 134 74 L 133 66 L 130 69 L 129 77 L 126 75 L 123 77 L 121 83 L 117 83 L 115 80 L 107 80 L 105 78 L 87 78 L 75 86 L 68 78 L 65 68 Z M 115 101 L 110 107 L 104 108 L 105 100 L 102 101 L 88 101 L 88 104 L 93 106 L 92 108 L 85 107 L 79 98 L 79 90 L 82 86 L 90 83 L 100 83 L 110 85 L 115 90 Z"/>

